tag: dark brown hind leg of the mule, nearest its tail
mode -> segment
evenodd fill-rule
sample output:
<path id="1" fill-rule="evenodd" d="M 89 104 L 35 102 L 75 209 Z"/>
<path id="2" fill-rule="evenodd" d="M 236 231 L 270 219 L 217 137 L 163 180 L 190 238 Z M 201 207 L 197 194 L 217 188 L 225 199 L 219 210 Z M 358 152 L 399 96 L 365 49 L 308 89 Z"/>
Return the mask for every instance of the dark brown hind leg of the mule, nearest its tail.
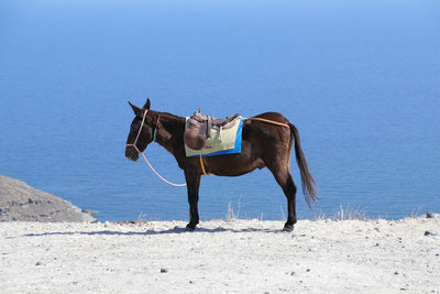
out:
<path id="1" fill-rule="evenodd" d="M 292 178 L 290 171 L 286 166 L 268 166 L 278 185 L 283 188 L 287 198 L 287 221 L 284 231 L 293 231 L 296 218 L 296 185 Z"/>

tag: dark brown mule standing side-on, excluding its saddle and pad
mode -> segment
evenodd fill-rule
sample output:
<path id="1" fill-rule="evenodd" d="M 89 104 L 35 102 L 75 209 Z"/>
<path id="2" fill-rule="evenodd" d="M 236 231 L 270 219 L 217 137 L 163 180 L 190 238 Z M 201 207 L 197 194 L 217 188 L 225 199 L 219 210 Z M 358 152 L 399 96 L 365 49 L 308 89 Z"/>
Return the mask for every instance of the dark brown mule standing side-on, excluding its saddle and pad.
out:
<path id="1" fill-rule="evenodd" d="M 241 153 L 206 156 L 202 157 L 201 162 L 198 156 L 187 157 L 185 154 L 185 118 L 150 110 L 150 99 L 146 100 L 142 109 L 130 101 L 129 104 L 135 118 L 131 123 L 127 139 L 125 156 L 129 160 L 138 161 L 140 152 L 143 152 L 153 141 L 174 155 L 178 166 L 185 173 L 187 184 L 190 215 L 187 229 L 195 230 L 199 224 L 200 177 L 206 174 L 206 171 L 218 176 L 239 176 L 255 168 L 267 167 L 287 198 L 288 217 L 283 230 L 293 231 L 294 225 L 297 222 L 297 187 L 292 178 L 289 167 L 294 141 L 305 199 L 309 207 L 311 207 L 311 203 L 316 203 L 318 199 L 316 182 L 309 172 L 298 130 L 283 115 L 265 112 L 245 119 L 242 129 Z M 274 123 L 284 124 L 287 128 Z"/>

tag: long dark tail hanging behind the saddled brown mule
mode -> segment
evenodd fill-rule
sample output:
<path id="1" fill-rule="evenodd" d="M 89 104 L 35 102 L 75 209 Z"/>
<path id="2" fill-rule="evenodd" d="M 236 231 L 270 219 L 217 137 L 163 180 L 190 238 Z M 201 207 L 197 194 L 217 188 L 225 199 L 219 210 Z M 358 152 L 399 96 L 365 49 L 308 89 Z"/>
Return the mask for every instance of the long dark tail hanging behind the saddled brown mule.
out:
<path id="1" fill-rule="evenodd" d="M 289 122 L 288 126 L 290 127 L 290 132 L 295 139 L 295 156 L 301 174 L 302 194 L 308 206 L 311 208 L 311 202 L 316 203 L 316 200 L 319 199 L 316 193 L 317 184 L 309 172 L 306 157 L 304 156 L 299 132 L 293 123 Z"/>

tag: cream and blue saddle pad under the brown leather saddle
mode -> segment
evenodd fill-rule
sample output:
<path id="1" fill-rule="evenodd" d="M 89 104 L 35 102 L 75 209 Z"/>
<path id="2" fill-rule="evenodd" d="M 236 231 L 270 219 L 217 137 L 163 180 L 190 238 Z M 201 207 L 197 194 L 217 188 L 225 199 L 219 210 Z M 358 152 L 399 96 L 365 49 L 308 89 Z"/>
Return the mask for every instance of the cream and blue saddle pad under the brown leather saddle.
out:
<path id="1" fill-rule="evenodd" d="M 211 137 L 207 139 L 201 150 L 194 150 L 185 144 L 186 156 L 215 156 L 221 154 L 241 153 L 242 117 L 230 122 L 233 127 L 227 130 L 212 128 Z M 189 127 L 189 117 L 186 118 L 185 129 Z"/>

